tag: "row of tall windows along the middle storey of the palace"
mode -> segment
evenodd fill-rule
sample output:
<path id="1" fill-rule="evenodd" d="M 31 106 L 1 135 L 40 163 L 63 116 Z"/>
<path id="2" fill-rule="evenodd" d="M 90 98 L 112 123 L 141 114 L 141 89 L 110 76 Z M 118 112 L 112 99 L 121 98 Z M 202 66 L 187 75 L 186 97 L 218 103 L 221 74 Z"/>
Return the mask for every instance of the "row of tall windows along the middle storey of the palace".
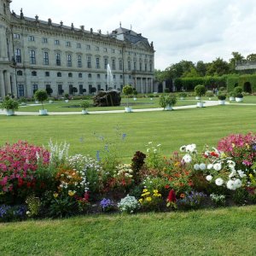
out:
<path id="1" fill-rule="evenodd" d="M 30 50 L 29 51 L 29 60 L 30 60 L 30 64 L 35 65 L 37 64 L 37 60 L 36 60 L 36 52 L 35 50 Z M 17 63 L 21 63 L 21 50 L 20 49 L 15 49 L 15 61 Z M 44 52 L 43 54 L 43 64 L 48 66 L 49 65 L 49 53 L 47 51 Z M 112 70 L 116 70 L 116 60 L 112 59 Z M 61 66 L 61 54 L 60 53 L 56 53 L 55 54 L 55 65 L 56 66 Z M 73 67 L 73 58 L 72 55 L 67 55 L 67 67 Z M 82 65 L 82 55 L 77 55 L 77 67 L 83 67 Z M 86 67 L 87 68 L 91 68 L 91 56 L 87 56 L 86 57 Z M 97 69 L 101 68 L 100 65 L 100 58 L 96 57 L 96 66 Z M 104 69 L 108 68 L 108 59 L 104 58 Z M 127 61 L 127 69 L 129 71 L 131 71 L 131 61 Z M 139 71 L 148 71 L 148 63 L 144 63 L 144 67 L 143 67 L 143 63 L 139 62 L 139 67 L 137 69 L 137 62 L 134 61 L 133 62 L 133 70 L 139 70 Z M 119 70 L 123 70 L 123 61 L 119 60 Z M 152 63 L 149 63 L 149 71 L 152 72 Z"/>

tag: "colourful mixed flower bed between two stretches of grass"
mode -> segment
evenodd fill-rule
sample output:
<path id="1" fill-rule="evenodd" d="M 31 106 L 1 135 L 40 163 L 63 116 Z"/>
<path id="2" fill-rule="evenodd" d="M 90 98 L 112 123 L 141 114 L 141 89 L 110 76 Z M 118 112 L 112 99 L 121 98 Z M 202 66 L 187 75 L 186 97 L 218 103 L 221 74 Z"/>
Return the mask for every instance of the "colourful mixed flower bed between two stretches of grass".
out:
<path id="1" fill-rule="evenodd" d="M 87 212 L 187 210 L 256 201 L 256 135 L 224 137 L 217 148 L 195 144 L 162 157 L 148 143 L 131 164 L 68 155 L 19 142 L 0 148 L 0 220 Z"/>

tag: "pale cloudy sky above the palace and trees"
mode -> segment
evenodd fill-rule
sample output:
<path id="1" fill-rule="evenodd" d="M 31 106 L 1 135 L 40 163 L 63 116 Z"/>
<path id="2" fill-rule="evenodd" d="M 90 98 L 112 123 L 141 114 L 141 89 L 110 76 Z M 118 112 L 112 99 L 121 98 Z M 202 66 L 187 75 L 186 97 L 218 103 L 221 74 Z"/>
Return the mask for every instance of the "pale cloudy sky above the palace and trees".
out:
<path id="1" fill-rule="evenodd" d="M 96 32 L 132 28 L 154 42 L 154 67 L 179 61 L 211 62 L 231 53 L 256 53 L 255 0 L 13 0 L 10 9 L 27 17 Z"/>

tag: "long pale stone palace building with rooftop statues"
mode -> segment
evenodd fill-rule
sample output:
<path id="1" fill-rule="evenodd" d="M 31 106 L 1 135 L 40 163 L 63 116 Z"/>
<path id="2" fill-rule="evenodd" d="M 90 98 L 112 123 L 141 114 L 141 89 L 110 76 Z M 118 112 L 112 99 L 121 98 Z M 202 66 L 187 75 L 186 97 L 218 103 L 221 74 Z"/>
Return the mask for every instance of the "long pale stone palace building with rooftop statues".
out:
<path id="1" fill-rule="evenodd" d="M 32 97 L 50 88 L 52 96 L 94 90 L 154 91 L 154 46 L 141 33 L 121 26 L 108 34 L 55 24 L 10 12 L 0 0 L 0 96 Z M 109 83 L 109 67 L 113 74 Z M 110 88 L 112 87 L 112 88 Z"/>

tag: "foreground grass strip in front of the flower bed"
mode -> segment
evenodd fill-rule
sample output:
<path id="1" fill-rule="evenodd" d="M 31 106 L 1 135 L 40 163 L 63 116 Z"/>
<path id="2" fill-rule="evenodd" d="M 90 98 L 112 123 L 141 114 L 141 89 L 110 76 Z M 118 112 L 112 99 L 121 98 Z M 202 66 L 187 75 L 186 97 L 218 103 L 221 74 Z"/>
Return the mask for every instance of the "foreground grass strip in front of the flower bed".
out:
<path id="1" fill-rule="evenodd" d="M 0 224 L 2 255 L 255 255 L 256 206 Z"/>

